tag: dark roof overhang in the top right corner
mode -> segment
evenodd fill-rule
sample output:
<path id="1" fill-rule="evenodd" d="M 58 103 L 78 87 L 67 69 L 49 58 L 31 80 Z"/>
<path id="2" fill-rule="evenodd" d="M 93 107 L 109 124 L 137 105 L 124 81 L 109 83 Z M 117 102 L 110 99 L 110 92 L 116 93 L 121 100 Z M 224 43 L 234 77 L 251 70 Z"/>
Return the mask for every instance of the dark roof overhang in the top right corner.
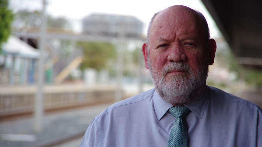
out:
<path id="1" fill-rule="evenodd" d="M 262 1 L 202 0 L 242 65 L 262 68 Z"/>

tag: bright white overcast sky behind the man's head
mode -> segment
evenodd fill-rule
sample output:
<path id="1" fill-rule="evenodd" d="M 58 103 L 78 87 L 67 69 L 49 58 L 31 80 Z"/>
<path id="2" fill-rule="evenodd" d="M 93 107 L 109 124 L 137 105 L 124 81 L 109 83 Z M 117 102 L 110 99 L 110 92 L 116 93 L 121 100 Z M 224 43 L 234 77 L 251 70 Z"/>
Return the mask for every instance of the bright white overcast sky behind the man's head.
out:
<path id="1" fill-rule="evenodd" d="M 147 25 L 155 12 L 172 5 L 185 5 L 198 10 L 206 17 L 211 37 L 217 37 L 219 31 L 201 0 L 46 0 L 47 14 L 54 17 L 63 16 L 75 22 L 80 22 L 85 16 L 94 13 L 109 13 L 132 15 Z M 42 0 L 10 0 L 10 8 L 41 10 Z"/>

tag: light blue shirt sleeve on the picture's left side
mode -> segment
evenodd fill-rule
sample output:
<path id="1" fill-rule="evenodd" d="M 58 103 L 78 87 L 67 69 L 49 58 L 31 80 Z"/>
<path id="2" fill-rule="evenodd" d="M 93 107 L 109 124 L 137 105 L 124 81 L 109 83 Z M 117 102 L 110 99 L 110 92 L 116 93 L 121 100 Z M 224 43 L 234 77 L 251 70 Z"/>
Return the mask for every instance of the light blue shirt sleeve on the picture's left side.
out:
<path id="1" fill-rule="evenodd" d="M 79 147 L 102 147 L 102 134 L 101 129 L 96 119 L 94 119 L 88 129 L 86 130 L 84 137 Z"/>

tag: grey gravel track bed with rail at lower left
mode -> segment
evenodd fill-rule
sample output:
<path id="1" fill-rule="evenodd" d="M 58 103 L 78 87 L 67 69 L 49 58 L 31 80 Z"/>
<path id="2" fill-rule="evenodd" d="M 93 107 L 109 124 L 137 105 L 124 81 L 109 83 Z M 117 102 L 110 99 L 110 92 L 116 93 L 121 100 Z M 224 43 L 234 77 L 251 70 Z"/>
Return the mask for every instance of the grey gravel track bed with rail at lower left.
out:
<path id="1" fill-rule="evenodd" d="M 41 132 L 34 131 L 34 118 L 0 122 L 1 147 L 69 147 L 78 146 L 90 122 L 110 104 L 69 109 L 43 118 Z"/>

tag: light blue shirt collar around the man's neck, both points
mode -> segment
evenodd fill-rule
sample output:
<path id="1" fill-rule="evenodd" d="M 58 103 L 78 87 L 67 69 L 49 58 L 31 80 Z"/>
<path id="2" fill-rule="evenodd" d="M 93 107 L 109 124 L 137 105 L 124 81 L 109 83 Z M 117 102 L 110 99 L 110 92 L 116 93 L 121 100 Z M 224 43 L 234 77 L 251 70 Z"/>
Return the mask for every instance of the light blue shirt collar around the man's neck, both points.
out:
<path id="1" fill-rule="evenodd" d="M 208 99 L 209 99 L 209 90 L 207 86 L 205 86 L 204 92 L 198 99 L 186 103 L 184 104 L 184 106 L 188 107 L 199 119 L 201 119 L 205 112 Z M 173 107 L 172 104 L 162 99 L 156 90 L 153 95 L 153 105 L 158 120 L 160 120 L 165 115 L 165 113 L 169 108 Z"/>

